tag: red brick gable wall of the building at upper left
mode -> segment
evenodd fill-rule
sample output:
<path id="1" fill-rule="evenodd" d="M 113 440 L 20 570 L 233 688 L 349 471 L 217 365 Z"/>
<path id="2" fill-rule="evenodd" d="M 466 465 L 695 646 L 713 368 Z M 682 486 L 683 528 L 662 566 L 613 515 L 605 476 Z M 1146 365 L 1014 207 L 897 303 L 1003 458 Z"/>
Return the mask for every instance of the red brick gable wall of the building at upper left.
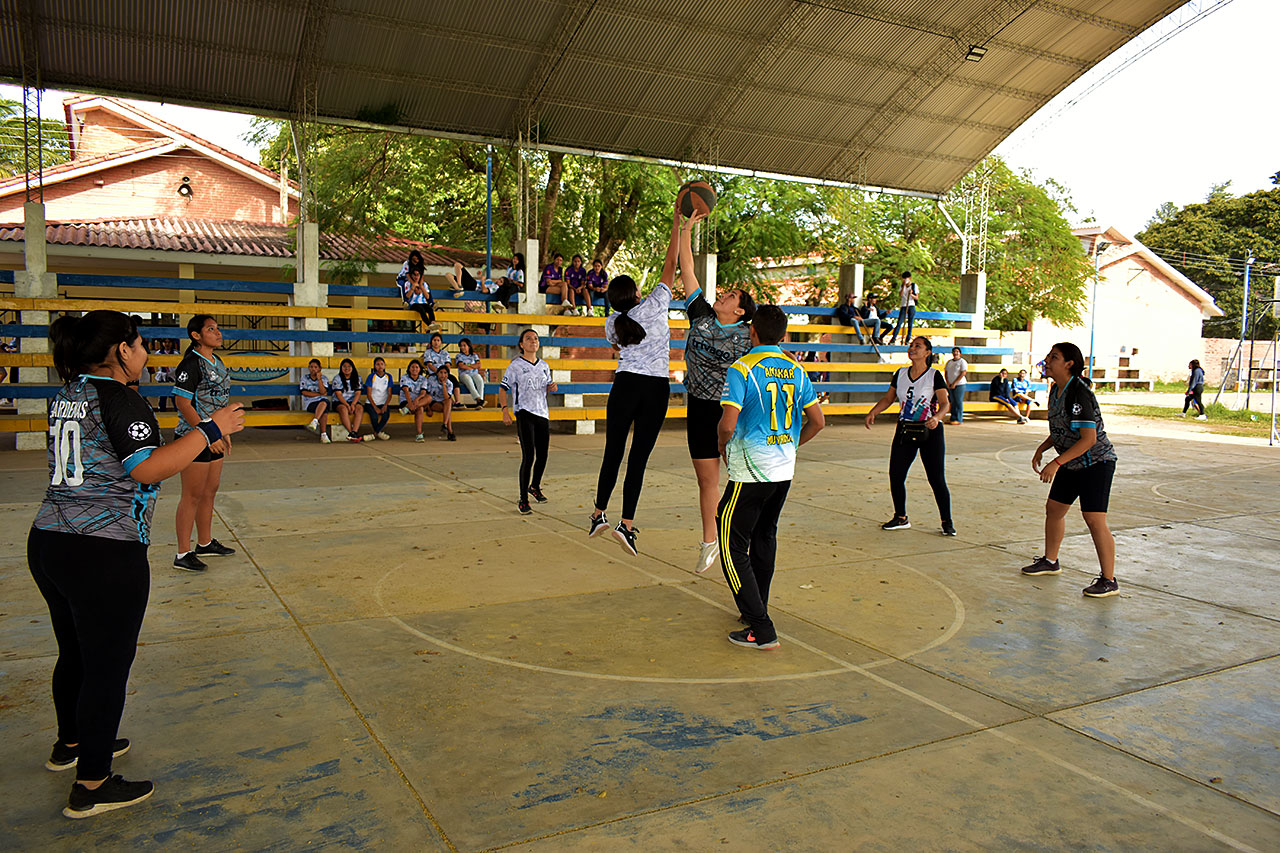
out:
<path id="1" fill-rule="evenodd" d="M 191 178 L 191 197 L 178 195 L 183 175 Z M 0 199 L 0 222 L 22 222 L 22 193 Z M 292 199 L 289 213 L 297 213 Z M 284 222 L 278 187 L 259 183 L 189 149 L 45 187 L 49 222 L 146 216 Z"/>

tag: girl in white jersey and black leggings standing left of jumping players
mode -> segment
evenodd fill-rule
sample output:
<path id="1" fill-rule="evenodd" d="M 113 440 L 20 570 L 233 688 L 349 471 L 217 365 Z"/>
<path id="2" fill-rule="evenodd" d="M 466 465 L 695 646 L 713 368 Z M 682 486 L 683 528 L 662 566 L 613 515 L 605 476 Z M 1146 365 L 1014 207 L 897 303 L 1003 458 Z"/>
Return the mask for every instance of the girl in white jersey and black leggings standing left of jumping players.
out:
<path id="1" fill-rule="evenodd" d="M 538 333 L 532 329 L 520 333 L 520 355 L 507 365 L 498 387 L 502 423 L 508 426 L 515 423 L 520 435 L 520 502 L 516 507 L 524 515 L 532 512 L 530 497 L 539 503 L 547 502 L 543 471 L 547 470 L 552 428 L 547 394 L 557 388 L 552 369 L 538 357 Z"/>

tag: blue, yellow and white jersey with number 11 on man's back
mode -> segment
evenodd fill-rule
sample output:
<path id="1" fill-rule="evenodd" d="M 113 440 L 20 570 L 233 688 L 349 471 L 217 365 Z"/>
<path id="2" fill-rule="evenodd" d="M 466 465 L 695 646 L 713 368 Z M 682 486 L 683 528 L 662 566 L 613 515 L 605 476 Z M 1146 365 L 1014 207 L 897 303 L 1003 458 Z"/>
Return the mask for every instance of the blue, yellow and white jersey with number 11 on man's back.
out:
<path id="1" fill-rule="evenodd" d="M 739 409 L 728 442 L 728 479 L 781 483 L 795 476 L 804 410 L 818 400 L 813 383 L 777 346 L 759 346 L 730 366 L 722 406 Z"/>

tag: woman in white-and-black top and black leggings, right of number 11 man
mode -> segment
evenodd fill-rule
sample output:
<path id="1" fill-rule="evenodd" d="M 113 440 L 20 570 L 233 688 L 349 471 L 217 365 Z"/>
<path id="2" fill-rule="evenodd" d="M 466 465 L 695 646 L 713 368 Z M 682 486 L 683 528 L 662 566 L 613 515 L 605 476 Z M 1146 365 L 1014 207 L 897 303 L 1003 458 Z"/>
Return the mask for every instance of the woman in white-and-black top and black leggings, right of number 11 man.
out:
<path id="1" fill-rule="evenodd" d="M 915 455 L 924 462 L 924 473 L 933 489 L 933 500 L 938 503 L 942 519 L 942 535 L 954 537 L 955 524 L 951 523 L 951 492 L 947 491 L 945 471 L 946 443 L 942 438 L 942 421 L 951 410 L 947 397 L 947 382 L 942 373 L 933 369 L 933 343 L 924 336 L 916 337 L 906 348 L 911 364 L 899 368 L 890 382 L 888 389 L 867 415 L 867 429 L 876 423 L 876 415 L 896 401 L 897 432 L 893 433 L 893 446 L 888 457 L 888 489 L 893 496 L 893 517 L 881 525 L 882 530 L 906 530 L 911 523 L 906 517 L 906 473 L 911 470 Z"/>

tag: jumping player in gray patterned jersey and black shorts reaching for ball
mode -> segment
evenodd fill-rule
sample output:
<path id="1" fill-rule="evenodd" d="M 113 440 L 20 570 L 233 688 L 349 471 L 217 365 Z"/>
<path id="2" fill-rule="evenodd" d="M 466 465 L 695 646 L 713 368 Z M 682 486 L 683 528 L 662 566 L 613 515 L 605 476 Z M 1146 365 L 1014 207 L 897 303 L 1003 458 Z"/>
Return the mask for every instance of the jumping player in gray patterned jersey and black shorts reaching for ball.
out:
<path id="1" fill-rule="evenodd" d="M 744 289 L 732 289 L 708 305 L 694 272 L 690 242 L 682 240 L 680 243 L 680 279 L 689 293 L 685 301 L 689 315 L 689 334 L 685 336 L 685 391 L 689 401 L 685 435 L 698 476 L 698 508 L 703 516 L 703 540 L 694 567 L 701 574 L 719 560 L 716 508 L 721 500 L 721 393 L 730 365 L 751 348 L 751 332 L 746 324 L 755 315 L 755 300 Z"/>

